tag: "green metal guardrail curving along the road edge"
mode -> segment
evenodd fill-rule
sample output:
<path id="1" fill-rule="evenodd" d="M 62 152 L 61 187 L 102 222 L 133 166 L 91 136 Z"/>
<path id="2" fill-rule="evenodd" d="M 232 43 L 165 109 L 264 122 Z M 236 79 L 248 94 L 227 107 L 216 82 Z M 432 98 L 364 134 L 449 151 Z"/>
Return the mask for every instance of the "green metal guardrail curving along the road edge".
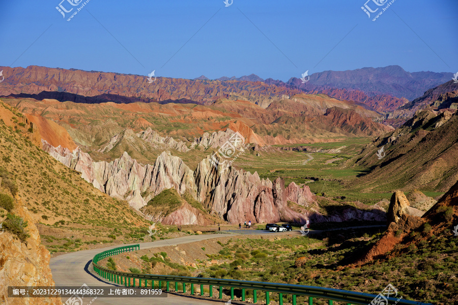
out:
<path id="1" fill-rule="evenodd" d="M 201 286 L 201 295 L 204 295 L 204 285 L 209 286 L 210 297 L 213 297 L 213 286 L 219 288 L 219 298 L 222 299 L 223 287 L 231 288 L 231 299 L 234 299 L 234 289 L 242 290 L 242 301 L 245 301 L 246 289 L 253 290 L 253 302 L 257 302 L 257 291 L 264 291 L 266 295 L 266 304 L 270 303 L 270 293 L 278 293 L 279 304 L 283 305 L 283 294 L 291 294 L 293 305 L 296 305 L 296 298 L 298 295 L 308 296 L 308 304 L 312 305 L 313 298 L 324 298 L 328 300 L 328 304 L 332 305 L 334 301 L 345 302 L 347 305 L 367 305 L 374 300 L 377 295 L 353 292 L 340 289 L 323 288 L 316 286 L 303 286 L 303 285 L 290 285 L 278 283 L 265 283 L 265 282 L 250 282 L 238 281 L 227 279 L 206 279 L 206 278 L 191 278 L 179 276 L 162 276 L 162 275 L 147 275 L 147 274 L 133 274 L 127 272 L 117 272 L 105 267 L 102 267 L 98 262 L 105 257 L 116 255 L 123 252 L 140 250 L 140 245 L 131 245 L 119 247 L 107 251 L 103 251 L 94 256 L 92 264 L 94 271 L 102 278 L 113 282 L 115 284 L 124 285 L 126 287 L 139 287 L 139 288 L 155 288 L 155 281 L 158 282 L 158 288 L 163 287 L 165 282 L 166 291 L 170 291 L 170 282 L 175 283 L 175 291 L 179 291 L 180 285 L 183 293 L 186 292 L 186 284 L 191 285 L 191 294 L 194 294 L 194 285 Z M 138 280 L 138 281 L 137 281 Z M 150 285 L 148 285 L 150 282 Z M 138 285 L 137 285 L 138 283 Z M 431 305 L 430 303 L 422 303 L 416 301 L 409 301 L 398 299 L 395 297 L 387 298 L 391 304 L 399 305 Z"/>

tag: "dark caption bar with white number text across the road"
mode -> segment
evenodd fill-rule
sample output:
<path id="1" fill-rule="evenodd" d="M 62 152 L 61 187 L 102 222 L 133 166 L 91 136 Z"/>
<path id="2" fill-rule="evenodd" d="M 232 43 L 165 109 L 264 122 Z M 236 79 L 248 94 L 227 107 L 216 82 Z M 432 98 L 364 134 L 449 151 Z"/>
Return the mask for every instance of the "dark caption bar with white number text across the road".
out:
<path id="1" fill-rule="evenodd" d="M 89 287 L 60 286 L 60 287 L 33 287 L 8 286 L 8 297 L 69 297 L 77 299 L 94 297 L 167 297 L 161 289 L 151 288 L 123 288 L 123 287 Z"/>

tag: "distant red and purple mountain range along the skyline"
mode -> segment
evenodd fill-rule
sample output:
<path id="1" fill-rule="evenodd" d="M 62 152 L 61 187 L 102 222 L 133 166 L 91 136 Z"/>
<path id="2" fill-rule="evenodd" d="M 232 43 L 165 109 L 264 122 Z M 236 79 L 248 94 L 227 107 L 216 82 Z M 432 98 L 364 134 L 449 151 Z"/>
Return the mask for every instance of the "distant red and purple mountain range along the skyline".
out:
<path id="1" fill-rule="evenodd" d="M 323 93 L 340 100 L 363 103 L 379 113 L 397 110 L 406 105 L 411 97 L 416 98 L 452 77 L 451 73 L 409 73 L 399 66 L 388 66 L 315 73 L 310 75 L 307 83 L 302 83 L 296 77 L 287 83 L 270 78 L 263 80 L 254 74 L 240 78 L 221 77 L 218 80 L 208 80 L 205 76 L 194 80 L 158 77 L 150 83 L 146 76 L 75 69 L 40 66 L 0 69 L 4 70 L 5 75 L 5 81 L 0 86 L 0 95 L 5 96 L 65 91 L 85 97 L 114 99 L 115 103 L 177 103 L 180 100 L 178 103 L 205 105 L 210 105 L 219 98 L 228 98 L 249 100 L 266 108 L 272 101 L 281 100 L 285 96 Z M 420 93 L 417 94 L 418 92 Z"/>

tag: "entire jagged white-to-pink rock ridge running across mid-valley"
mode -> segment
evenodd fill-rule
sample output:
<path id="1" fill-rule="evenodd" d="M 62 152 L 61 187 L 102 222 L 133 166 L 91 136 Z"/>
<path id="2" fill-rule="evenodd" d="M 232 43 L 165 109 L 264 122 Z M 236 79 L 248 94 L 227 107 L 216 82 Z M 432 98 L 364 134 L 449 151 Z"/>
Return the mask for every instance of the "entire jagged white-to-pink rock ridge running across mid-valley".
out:
<path id="1" fill-rule="evenodd" d="M 251 174 L 232 166 L 215 167 L 210 156 L 199 162 L 193 172 L 183 160 L 169 152 L 162 152 L 153 165 L 142 165 L 126 152 L 111 162 L 94 162 L 79 148 L 71 152 L 43 141 L 43 150 L 80 172 L 84 180 L 100 191 L 127 200 L 138 210 L 163 190 L 174 188 L 180 195 L 189 193 L 210 215 L 230 223 L 240 223 L 243 219 L 257 223 L 304 223 L 308 219 L 315 222 L 383 220 L 379 210 L 357 210 L 325 217 L 319 212 L 308 186 L 291 183 L 285 188 L 284 181 L 279 178 L 272 182 L 260 179 L 256 172 Z M 174 215 L 149 217 L 168 224 L 205 222 L 203 213 L 191 206 L 184 205 L 180 211 L 174 211 Z"/>

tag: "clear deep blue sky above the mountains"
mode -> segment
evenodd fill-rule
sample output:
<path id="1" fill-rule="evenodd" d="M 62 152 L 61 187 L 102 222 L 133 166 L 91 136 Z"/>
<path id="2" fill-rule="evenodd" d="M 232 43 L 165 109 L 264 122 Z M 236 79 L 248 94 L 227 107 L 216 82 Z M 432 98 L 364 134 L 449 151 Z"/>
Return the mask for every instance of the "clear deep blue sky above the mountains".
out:
<path id="1" fill-rule="evenodd" d="M 1 2 L 0 65 L 283 81 L 393 64 L 458 71 L 456 0 L 395 0 L 375 22 L 366 0 L 90 0 L 71 21 L 78 6 L 64 0 L 75 9 L 63 18 L 61 1 Z"/>

